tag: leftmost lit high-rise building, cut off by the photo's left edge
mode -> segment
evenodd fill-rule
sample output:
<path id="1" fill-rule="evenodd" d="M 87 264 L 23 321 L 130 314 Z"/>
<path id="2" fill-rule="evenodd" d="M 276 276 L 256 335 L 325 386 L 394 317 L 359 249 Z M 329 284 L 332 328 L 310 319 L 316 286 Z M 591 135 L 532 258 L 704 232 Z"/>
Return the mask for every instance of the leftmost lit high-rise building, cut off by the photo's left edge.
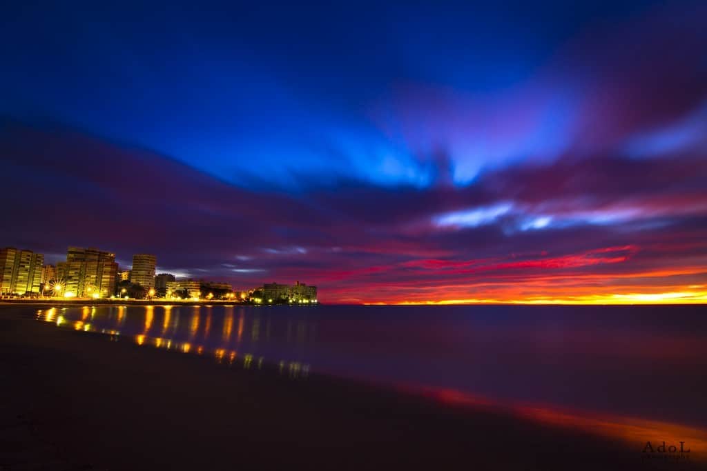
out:
<path id="1" fill-rule="evenodd" d="M 13 247 L 0 249 L 0 294 L 40 292 L 44 255 Z"/>

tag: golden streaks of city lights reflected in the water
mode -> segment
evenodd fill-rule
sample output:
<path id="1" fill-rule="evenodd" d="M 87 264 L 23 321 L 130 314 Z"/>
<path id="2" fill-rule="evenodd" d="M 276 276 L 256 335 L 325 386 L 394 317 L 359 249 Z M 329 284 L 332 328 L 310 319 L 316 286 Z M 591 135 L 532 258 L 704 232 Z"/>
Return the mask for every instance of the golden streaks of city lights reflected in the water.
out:
<path id="1" fill-rule="evenodd" d="M 205 306 L 210 308 L 211 306 Z M 129 314 L 128 314 L 129 313 Z M 185 328 L 180 329 L 180 318 L 186 317 Z M 244 336 L 252 344 L 259 340 L 260 317 L 255 316 L 246 322 L 245 313 L 240 309 L 238 329 L 233 330 L 234 308 L 228 306 L 221 316 L 214 318 L 211 309 L 204 315 L 200 306 L 83 306 L 81 308 L 62 308 L 57 315 L 57 308 L 37 311 L 37 320 L 56 323 L 59 327 L 73 328 L 83 332 L 109 335 L 110 340 L 130 339 L 137 345 L 146 345 L 166 350 L 175 350 L 191 354 L 212 354 L 220 364 L 240 364 L 244 369 L 262 369 L 267 361 L 262 354 L 249 352 L 239 360 L 238 347 Z M 153 324 L 157 323 L 158 335 L 153 335 Z M 269 319 L 268 319 L 269 332 Z M 201 328 L 201 331 L 200 331 Z M 221 335 L 219 335 L 221 333 Z M 268 334 L 269 335 L 269 334 Z M 235 337 L 235 338 L 234 338 Z M 247 348 L 251 344 L 245 344 Z M 273 365 L 280 365 L 279 371 L 291 378 L 306 378 L 310 366 L 297 359 L 273 359 Z M 287 366 L 284 371 L 282 365 Z"/>

